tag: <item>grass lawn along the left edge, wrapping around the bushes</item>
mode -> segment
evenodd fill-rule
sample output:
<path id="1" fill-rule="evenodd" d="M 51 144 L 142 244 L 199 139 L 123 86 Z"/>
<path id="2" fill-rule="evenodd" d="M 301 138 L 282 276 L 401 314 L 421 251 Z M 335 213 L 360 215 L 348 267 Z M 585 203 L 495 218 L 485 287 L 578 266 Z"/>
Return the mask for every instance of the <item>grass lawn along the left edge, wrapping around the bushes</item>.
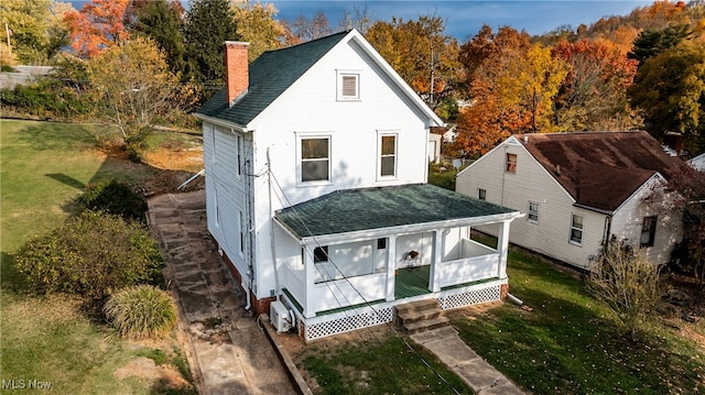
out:
<path id="1" fill-rule="evenodd" d="M 193 392 L 183 386 L 187 363 L 174 338 L 119 340 L 82 312 L 78 298 L 19 293 L 11 270 L 12 252 L 76 212 L 73 201 L 86 184 L 110 178 L 140 184 L 159 171 L 99 149 L 98 140 L 111 133 L 102 125 L 1 120 L 0 132 L 3 385 L 29 387 L 37 381 L 51 383 L 56 394 Z"/>

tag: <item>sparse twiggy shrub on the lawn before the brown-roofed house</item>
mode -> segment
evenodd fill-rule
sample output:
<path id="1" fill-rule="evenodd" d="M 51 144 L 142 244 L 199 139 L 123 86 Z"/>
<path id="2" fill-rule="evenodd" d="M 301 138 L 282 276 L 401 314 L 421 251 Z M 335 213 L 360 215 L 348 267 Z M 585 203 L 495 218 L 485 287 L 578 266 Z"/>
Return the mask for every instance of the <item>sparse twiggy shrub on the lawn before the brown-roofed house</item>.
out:
<path id="1" fill-rule="evenodd" d="M 621 328 L 634 338 L 644 317 L 665 295 L 661 265 L 651 263 L 642 250 L 611 240 L 590 264 L 587 289 L 605 301 Z"/>

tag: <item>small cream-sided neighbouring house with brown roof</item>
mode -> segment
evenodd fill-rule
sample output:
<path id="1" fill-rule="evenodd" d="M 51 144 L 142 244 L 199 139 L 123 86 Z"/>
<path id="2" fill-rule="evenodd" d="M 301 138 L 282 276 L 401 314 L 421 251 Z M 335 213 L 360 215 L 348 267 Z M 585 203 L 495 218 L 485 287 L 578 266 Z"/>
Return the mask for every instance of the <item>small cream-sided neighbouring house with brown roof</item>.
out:
<path id="1" fill-rule="evenodd" d="M 647 132 L 524 134 L 460 172 L 456 190 L 525 212 L 510 242 L 573 266 L 612 235 L 665 263 L 682 220 L 657 191 L 680 163 Z"/>

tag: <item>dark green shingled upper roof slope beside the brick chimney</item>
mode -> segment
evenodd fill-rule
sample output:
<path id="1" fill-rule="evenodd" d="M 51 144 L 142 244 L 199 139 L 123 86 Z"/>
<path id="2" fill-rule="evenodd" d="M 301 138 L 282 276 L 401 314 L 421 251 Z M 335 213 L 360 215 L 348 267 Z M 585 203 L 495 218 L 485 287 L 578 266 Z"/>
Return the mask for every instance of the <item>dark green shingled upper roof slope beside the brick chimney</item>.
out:
<path id="1" fill-rule="evenodd" d="M 226 89 L 223 88 L 196 112 L 241 127 L 247 125 L 347 34 L 348 32 L 340 32 L 261 54 L 250 64 L 247 95 L 228 108 Z"/>

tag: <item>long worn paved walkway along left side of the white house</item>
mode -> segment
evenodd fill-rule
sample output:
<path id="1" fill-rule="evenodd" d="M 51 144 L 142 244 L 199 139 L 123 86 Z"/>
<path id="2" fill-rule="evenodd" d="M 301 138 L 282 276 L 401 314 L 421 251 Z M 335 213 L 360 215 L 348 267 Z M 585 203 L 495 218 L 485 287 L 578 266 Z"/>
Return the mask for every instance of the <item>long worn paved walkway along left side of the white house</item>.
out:
<path id="1" fill-rule="evenodd" d="M 150 226 L 166 256 L 198 392 L 296 394 L 206 230 L 204 191 L 149 200 Z"/>

